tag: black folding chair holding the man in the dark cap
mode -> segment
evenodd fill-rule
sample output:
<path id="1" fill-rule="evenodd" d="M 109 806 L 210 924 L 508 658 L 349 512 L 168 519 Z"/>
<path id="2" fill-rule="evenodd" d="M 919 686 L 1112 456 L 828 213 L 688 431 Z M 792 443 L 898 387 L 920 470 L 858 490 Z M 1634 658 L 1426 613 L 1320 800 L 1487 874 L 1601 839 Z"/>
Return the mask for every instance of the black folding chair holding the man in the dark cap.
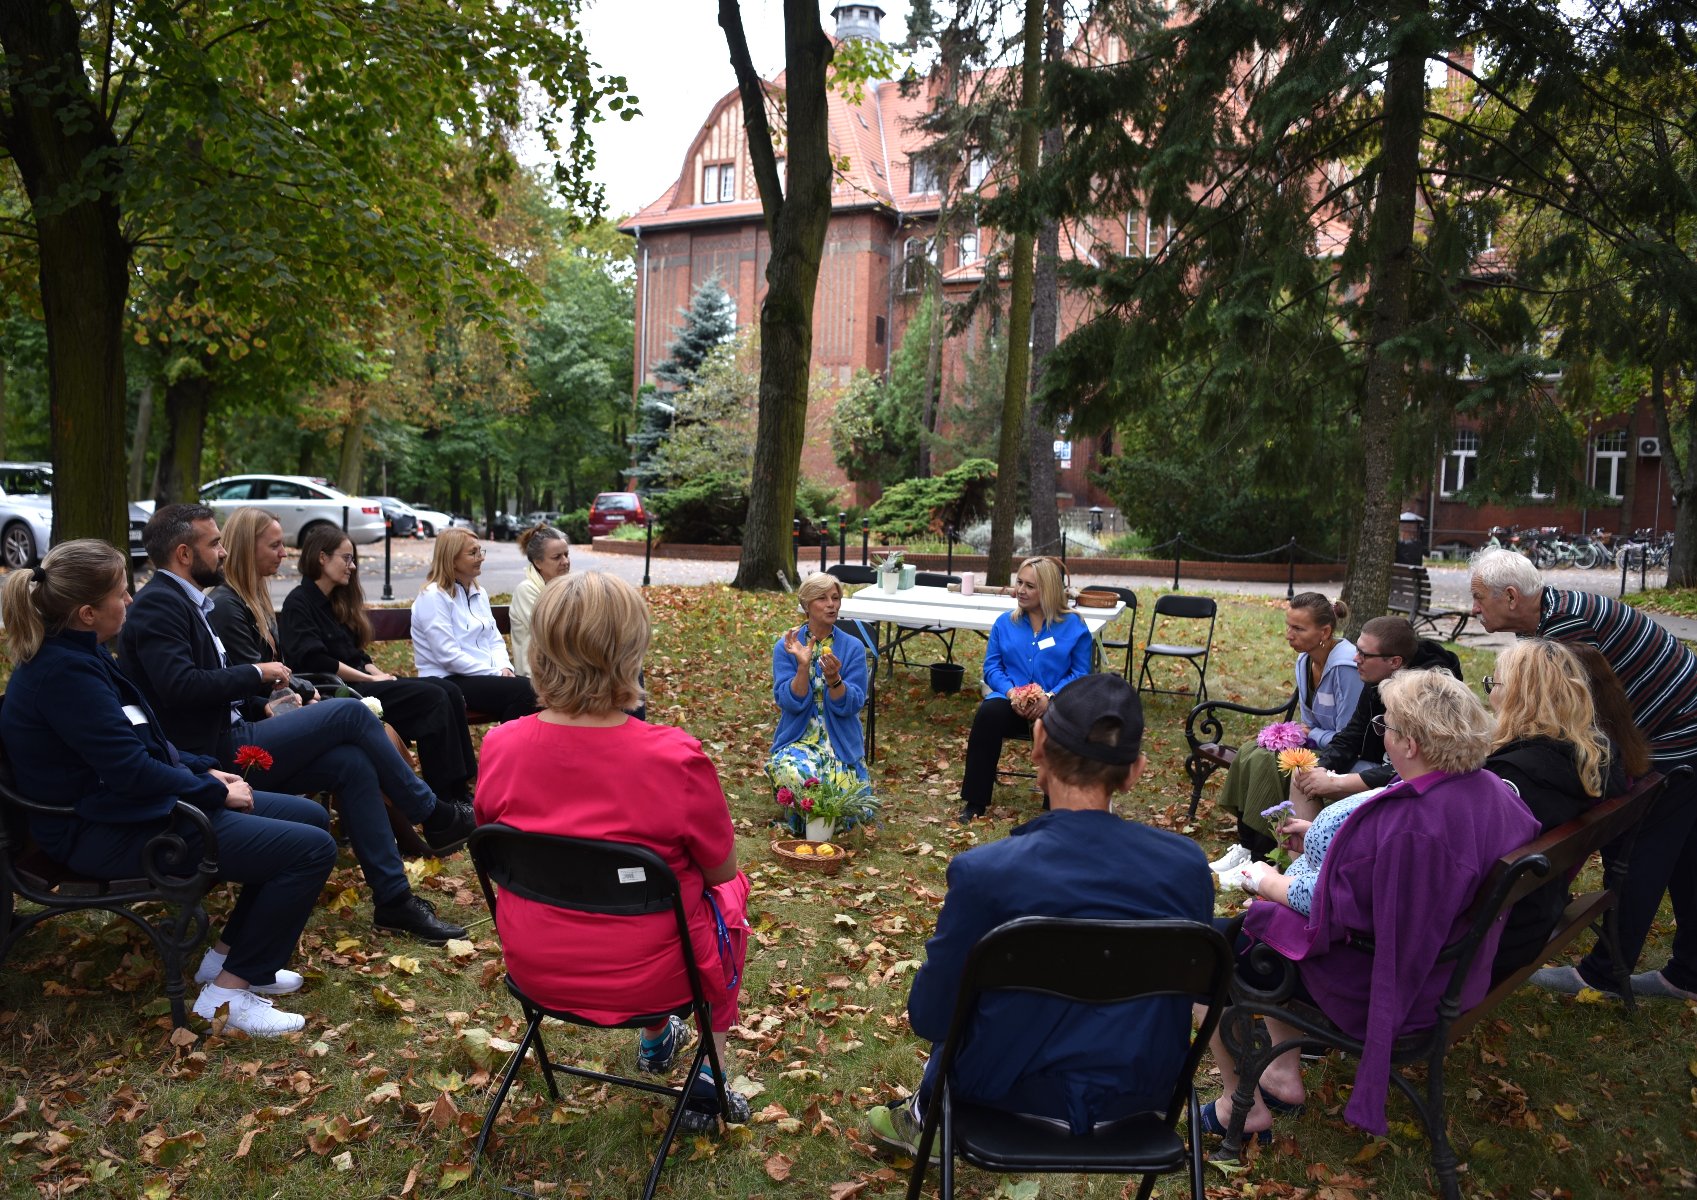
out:
<path id="1" fill-rule="evenodd" d="M 1190 1168 L 1190 1190 L 1203 1200 L 1201 1105 L 1193 1076 L 1225 1008 L 1232 952 L 1212 925 L 1185 920 L 1110 922 L 1064 917 L 1020 917 L 979 939 L 967 957 L 938 1063 L 938 1086 L 925 1110 L 908 1200 L 918 1200 L 932 1141 L 937 1151 L 942 1200 L 954 1197 L 954 1159 L 1000 1175 L 1140 1175 L 1139 1200 L 1147 1200 L 1156 1176 Z M 1152 996 L 1185 996 L 1207 1005 L 1173 1083 L 1166 1112 L 1134 1113 L 1074 1137 L 1045 1120 L 955 1100 L 949 1074 L 972 1025 L 983 991 L 1035 991 L 1086 1005 L 1117 1005 Z M 1190 1144 L 1178 1117 L 1190 1112 Z"/>

